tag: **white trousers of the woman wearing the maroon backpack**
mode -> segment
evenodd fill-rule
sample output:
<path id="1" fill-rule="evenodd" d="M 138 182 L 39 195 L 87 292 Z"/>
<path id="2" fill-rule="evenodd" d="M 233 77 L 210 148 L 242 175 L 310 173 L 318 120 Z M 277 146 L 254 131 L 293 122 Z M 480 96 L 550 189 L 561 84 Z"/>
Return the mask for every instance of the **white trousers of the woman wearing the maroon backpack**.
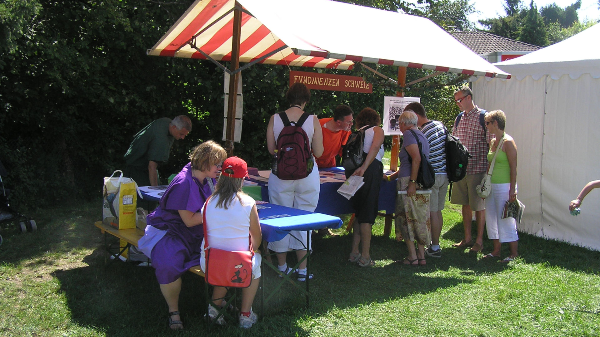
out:
<path id="1" fill-rule="evenodd" d="M 281 180 L 275 174 L 269 176 L 269 202 L 272 204 L 314 212 L 319 203 L 319 191 L 319 168 L 316 164 L 304 179 Z M 268 248 L 275 252 L 307 249 L 307 231 L 293 230 L 290 234 L 279 241 L 269 242 Z M 311 250 L 311 247 L 308 249 Z"/>

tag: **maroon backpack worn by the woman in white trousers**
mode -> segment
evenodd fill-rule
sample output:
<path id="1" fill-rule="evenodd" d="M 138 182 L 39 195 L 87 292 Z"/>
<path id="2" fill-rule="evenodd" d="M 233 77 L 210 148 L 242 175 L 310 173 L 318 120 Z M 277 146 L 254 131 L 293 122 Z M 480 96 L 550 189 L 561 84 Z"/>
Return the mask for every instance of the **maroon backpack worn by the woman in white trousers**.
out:
<path id="1" fill-rule="evenodd" d="M 313 171 L 313 156 L 310 141 L 302 129 L 308 113 L 302 113 L 298 122 L 290 123 L 285 112 L 279 116 L 283 122 L 283 130 L 277 137 L 277 177 L 281 180 L 297 180 L 308 176 Z"/>

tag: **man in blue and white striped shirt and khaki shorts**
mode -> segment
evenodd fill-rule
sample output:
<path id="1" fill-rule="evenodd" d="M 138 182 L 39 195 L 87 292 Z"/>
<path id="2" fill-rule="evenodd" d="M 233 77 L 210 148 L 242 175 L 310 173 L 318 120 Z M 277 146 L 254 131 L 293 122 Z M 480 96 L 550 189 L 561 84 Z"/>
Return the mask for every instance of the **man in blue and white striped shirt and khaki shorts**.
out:
<path id="1" fill-rule="evenodd" d="M 417 126 L 427 137 L 429 143 L 429 163 L 436 173 L 436 183 L 431 187 L 429 210 L 431 218 L 431 245 L 425 249 L 428 257 L 442 257 L 440 234 L 442 233 L 442 209 L 448 191 L 448 175 L 446 174 L 446 130 L 442 122 L 430 121 L 421 103 L 409 103 L 404 110 L 412 110 L 417 116 Z"/>

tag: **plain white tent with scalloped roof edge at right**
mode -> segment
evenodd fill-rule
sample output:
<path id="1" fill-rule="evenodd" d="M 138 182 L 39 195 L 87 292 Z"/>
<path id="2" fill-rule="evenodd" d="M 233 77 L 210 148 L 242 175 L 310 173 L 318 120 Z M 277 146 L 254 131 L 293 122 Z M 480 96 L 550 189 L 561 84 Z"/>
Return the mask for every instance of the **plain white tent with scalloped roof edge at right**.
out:
<path id="1" fill-rule="evenodd" d="M 569 201 L 600 179 L 600 25 L 496 67 L 510 80 L 479 77 L 475 103 L 506 113 L 518 148 L 518 198 L 526 205 L 519 229 L 600 249 L 600 191 L 581 214 Z"/>

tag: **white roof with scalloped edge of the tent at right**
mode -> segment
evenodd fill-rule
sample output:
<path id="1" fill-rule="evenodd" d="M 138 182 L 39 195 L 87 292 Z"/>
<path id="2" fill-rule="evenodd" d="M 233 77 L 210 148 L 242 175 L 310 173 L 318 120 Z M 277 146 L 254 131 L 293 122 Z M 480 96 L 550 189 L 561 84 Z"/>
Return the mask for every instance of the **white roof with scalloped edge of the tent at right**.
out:
<path id="1" fill-rule="evenodd" d="M 509 71 L 518 80 L 532 76 L 539 80 L 548 75 L 553 80 L 569 75 L 577 79 L 581 74 L 600 77 L 600 25 L 596 24 L 579 34 L 535 52 L 504 62 L 495 63 Z"/>

